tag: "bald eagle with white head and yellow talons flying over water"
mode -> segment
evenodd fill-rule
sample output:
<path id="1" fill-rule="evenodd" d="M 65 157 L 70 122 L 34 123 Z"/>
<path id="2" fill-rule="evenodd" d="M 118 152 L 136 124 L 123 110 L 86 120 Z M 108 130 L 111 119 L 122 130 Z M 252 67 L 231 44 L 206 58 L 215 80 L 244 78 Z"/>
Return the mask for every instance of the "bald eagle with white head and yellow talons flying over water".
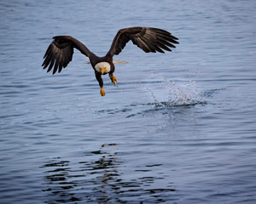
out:
<path id="1" fill-rule="evenodd" d="M 73 58 L 73 49 L 77 48 L 81 54 L 90 59 L 90 64 L 95 71 L 96 80 L 101 88 L 100 94 L 105 95 L 103 89 L 102 75 L 108 74 L 111 82 L 117 86 L 117 79 L 113 76 L 114 64 L 121 64 L 122 61 L 114 60 L 113 55 L 119 54 L 127 42 L 131 40 L 138 48 L 142 48 L 146 53 L 165 53 L 163 50 L 172 51 L 178 44 L 177 37 L 172 36 L 168 31 L 152 27 L 130 27 L 120 29 L 111 44 L 108 53 L 103 57 L 98 57 L 79 40 L 71 36 L 53 37 L 53 42 L 49 44 L 44 54 L 43 69 L 48 67 L 47 72 L 53 68 L 53 74 L 56 71 L 61 72 Z"/>

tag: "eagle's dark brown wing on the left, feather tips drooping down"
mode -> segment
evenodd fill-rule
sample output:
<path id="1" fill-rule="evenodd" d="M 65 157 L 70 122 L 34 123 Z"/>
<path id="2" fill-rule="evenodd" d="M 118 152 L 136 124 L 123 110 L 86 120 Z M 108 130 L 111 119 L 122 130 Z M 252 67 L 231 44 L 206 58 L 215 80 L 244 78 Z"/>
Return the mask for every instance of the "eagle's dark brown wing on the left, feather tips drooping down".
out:
<path id="1" fill-rule="evenodd" d="M 70 36 L 56 36 L 53 38 L 54 41 L 49 44 L 44 54 L 44 63 L 42 65 L 44 66 L 43 69 L 49 66 L 47 72 L 51 71 L 54 67 L 53 74 L 55 74 L 57 70 L 60 73 L 62 68 L 65 68 L 72 60 L 73 48 L 79 49 L 82 54 L 90 57 L 90 50 L 77 39 Z"/>

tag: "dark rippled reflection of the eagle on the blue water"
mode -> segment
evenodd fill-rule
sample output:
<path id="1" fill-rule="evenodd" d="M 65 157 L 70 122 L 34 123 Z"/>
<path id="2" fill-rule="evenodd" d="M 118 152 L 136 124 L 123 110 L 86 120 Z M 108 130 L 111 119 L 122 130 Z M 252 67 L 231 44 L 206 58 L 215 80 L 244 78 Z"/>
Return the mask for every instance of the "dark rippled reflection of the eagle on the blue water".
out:
<path id="1" fill-rule="evenodd" d="M 45 203 L 161 203 L 165 196 L 175 189 L 156 188 L 154 180 L 165 179 L 164 176 L 143 176 L 125 180 L 119 167 L 119 152 L 111 152 L 111 146 L 103 144 L 99 150 L 84 154 L 84 160 L 73 164 L 61 157 L 50 159 L 42 166 L 45 173 L 45 188 L 48 192 Z M 108 150 L 105 150 L 106 147 Z M 95 160 L 91 160 L 91 157 Z M 86 161 L 88 158 L 90 161 Z M 136 172 L 147 173 L 150 168 L 161 164 L 146 165 Z M 151 186 L 153 185 L 153 186 Z M 133 200 L 135 198 L 135 200 Z"/>

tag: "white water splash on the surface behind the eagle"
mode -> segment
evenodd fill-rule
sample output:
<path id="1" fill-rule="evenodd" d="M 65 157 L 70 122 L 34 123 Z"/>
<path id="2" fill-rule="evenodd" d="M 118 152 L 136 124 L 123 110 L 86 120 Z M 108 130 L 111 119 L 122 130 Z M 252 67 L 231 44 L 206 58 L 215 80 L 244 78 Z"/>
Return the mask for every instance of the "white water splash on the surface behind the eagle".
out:
<path id="1" fill-rule="evenodd" d="M 206 103 L 197 90 L 195 81 L 170 82 L 162 76 L 158 79 L 160 79 L 160 83 L 156 83 L 156 87 L 145 87 L 154 99 L 156 106 L 171 107 Z"/>

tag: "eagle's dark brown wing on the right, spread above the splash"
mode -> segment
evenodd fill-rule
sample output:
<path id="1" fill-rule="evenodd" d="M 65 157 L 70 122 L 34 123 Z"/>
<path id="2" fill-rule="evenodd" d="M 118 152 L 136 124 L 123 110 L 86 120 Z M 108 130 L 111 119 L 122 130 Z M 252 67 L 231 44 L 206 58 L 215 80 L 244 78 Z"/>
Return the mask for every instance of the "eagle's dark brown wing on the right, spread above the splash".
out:
<path id="1" fill-rule="evenodd" d="M 108 55 L 119 54 L 130 40 L 146 53 L 165 53 L 163 49 L 172 51 L 171 48 L 176 48 L 173 44 L 178 44 L 177 37 L 168 31 L 151 27 L 130 27 L 118 31 Z"/>

